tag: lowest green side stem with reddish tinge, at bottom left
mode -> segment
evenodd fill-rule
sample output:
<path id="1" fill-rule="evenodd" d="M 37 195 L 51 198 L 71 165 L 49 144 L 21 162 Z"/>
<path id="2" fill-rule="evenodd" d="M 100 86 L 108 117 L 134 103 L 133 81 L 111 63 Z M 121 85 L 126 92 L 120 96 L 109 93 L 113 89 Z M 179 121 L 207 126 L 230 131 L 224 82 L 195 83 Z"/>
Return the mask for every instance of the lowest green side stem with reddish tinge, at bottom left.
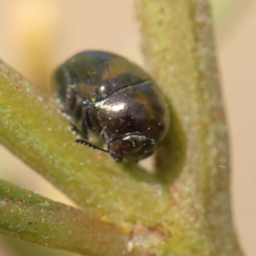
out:
<path id="1" fill-rule="evenodd" d="M 83 255 L 131 255 L 113 224 L 0 180 L 0 233 Z"/>

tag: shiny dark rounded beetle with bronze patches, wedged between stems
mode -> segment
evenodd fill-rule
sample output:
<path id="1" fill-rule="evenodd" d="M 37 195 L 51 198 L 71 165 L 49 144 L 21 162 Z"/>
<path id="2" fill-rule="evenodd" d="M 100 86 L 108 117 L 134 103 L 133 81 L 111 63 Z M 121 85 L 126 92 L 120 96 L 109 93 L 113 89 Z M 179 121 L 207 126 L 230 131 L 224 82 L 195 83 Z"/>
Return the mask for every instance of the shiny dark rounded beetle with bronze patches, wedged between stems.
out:
<path id="1" fill-rule="evenodd" d="M 165 136 L 169 113 L 165 97 L 137 65 L 103 51 L 84 51 L 55 72 L 55 89 L 63 112 L 80 122 L 73 130 L 88 139 L 101 136 L 118 161 L 142 160 L 154 153 Z"/>

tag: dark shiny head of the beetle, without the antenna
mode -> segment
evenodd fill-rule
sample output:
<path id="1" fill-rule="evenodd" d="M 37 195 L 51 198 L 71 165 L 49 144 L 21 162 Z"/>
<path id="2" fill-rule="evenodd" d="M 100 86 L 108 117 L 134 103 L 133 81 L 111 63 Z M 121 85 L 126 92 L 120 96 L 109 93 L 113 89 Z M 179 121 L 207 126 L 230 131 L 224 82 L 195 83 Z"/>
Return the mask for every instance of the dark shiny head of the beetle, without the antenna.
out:
<path id="1" fill-rule="evenodd" d="M 154 148 L 154 139 L 142 134 L 119 137 L 108 144 L 109 153 L 117 162 L 142 160 L 153 154 Z"/>

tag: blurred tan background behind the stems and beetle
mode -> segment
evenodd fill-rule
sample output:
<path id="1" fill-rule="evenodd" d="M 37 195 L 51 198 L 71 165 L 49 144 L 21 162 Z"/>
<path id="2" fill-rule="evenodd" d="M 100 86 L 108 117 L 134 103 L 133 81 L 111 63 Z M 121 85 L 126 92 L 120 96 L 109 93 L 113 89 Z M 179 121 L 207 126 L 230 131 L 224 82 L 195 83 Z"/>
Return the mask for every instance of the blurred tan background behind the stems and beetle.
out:
<path id="1" fill-rule="evenodd" d="M 256 1 L 212 0 L 232 154 L 232 208 L 245 255 L 256 255 Z M 0 0 L 0 57 L 50 93 L 51 75 L 83 49 L 145 66 L 131 0 Z M 254 153 L 253 153 L 254 152 Z M 0 178 L 72 202 L 0 146 Z M 0 256 L 72 255 L 0 236 Z"/>

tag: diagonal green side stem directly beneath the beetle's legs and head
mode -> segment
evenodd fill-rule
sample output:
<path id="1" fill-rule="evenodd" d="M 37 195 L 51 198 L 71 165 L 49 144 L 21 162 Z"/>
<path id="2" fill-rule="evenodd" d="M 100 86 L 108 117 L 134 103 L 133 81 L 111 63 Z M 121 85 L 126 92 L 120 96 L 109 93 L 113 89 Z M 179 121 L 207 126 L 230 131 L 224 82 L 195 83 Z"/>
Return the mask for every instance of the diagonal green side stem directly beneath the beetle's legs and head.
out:
<path id="1" fill-rule="evenodd" d="M 115 222 L 150 224 L 159 218 L 165 207 L 160 183 L 137 165 L 117 164 L 75 143 L 52 100 L 3 62 L 0 117 L 0 143 L 80 207 L 93 207 Z"/>

